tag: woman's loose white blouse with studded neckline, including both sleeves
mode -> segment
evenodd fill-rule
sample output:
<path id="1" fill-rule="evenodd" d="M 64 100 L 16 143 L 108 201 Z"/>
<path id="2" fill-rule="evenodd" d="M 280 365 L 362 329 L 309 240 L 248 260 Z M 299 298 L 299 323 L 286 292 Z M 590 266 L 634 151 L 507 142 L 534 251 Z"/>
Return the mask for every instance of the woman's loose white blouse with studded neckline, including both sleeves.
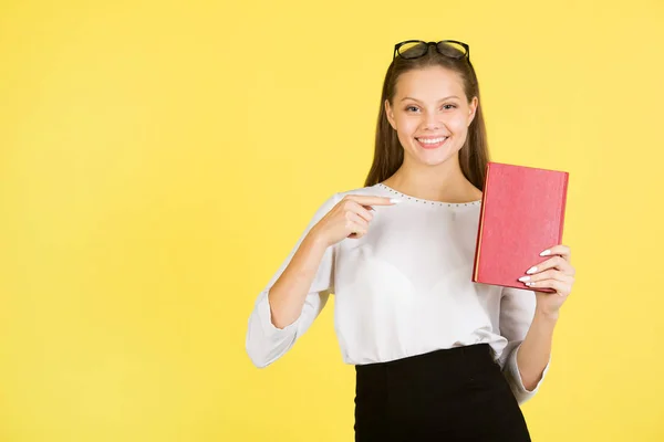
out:
<path id="1" fill-rule="evenodd" d="M 344 194 L 402 202 L 375 206 L 367 234 L 328 248 L 300 317 L 277 328 L 268 302 L 270 287 L 309 230 Z M 383 183 L 333 194 L 258 295 L 246 339 L 251 361 L 262 368 L 283 356 L 334 294 L 334 328 L 344 362 L 384 362 L 488 343 L 519 403 L 530 399 L 544 376 L 535 390 L 527 390 L 517 351 L 532 322 L 535 293 L 470 281 L 480 203 L 416 199 Z M 544 375 L 548 369 L 549 365 Z"/>

